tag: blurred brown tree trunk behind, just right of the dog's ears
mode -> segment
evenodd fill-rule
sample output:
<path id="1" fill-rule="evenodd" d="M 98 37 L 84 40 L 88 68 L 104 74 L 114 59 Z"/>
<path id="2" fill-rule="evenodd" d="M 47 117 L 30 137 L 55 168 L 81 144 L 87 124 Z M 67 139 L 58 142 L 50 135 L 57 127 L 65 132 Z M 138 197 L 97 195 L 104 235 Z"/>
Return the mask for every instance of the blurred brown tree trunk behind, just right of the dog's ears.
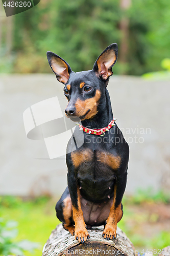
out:
<path id="1" fill-rule="evenodd" d="M 119 23 L 119 29 L 122 32 L 119 47 L 119 62 L 126 64 L 128 62 L 128 41 L 129 41 L 129 18 L 126 17 L 126 10 L 131 6 L 131 0 L 120 0 L 120 9 L 122 9 L 123 17 Z M 126 70 L 123 71 L 126 74 Z"/>

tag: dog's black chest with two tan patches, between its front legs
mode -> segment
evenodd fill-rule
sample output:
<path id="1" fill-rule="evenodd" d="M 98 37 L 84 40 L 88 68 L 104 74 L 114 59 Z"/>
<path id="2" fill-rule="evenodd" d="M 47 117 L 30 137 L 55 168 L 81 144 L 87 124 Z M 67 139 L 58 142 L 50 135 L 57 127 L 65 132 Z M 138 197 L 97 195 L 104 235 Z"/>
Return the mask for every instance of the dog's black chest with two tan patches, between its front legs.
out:
<path id="1" fill-rule="evenodd" d="M 89 149 L 71 153 L 81 194 L 101 200 L 111 196 L 120 157 Z"/>

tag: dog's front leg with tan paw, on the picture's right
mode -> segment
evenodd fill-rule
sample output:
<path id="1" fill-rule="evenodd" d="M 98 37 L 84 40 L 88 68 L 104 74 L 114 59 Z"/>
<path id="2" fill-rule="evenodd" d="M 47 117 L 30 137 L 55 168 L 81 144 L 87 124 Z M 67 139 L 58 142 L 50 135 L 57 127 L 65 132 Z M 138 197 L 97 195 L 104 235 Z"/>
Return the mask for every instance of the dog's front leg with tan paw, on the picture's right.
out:
<path id="1" fill-rule="evenodd" d="M 103 231 L 103 237 L 106 240 L 116 238 L 117 222 L 119 222 L 123 216 L 121 205 L 122 205 L 122 198 L 123 198 L 125 187 L 126 187 L 126 182 L 127 182 L 127 172 L 124 175 L 116 178 L 116 182 L 114 185 L 113 204 L 110 207 L 109 217 L 106 221 L 106 226 Z"/>

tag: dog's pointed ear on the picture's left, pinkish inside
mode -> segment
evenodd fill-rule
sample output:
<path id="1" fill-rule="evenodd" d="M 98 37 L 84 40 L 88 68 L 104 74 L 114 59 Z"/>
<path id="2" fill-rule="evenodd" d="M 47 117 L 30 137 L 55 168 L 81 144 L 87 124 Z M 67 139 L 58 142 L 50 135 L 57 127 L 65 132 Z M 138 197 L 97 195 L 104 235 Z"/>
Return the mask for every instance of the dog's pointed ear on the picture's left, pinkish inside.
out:
<path id="1" fill-rule="evenodd" d="M 69 75 L 72 72 L 68 63 L 53 52 L 47 52 L 46 56 L 51 69 L 56 75 L 57 80 L 66 84 L 68 81 Z"/>

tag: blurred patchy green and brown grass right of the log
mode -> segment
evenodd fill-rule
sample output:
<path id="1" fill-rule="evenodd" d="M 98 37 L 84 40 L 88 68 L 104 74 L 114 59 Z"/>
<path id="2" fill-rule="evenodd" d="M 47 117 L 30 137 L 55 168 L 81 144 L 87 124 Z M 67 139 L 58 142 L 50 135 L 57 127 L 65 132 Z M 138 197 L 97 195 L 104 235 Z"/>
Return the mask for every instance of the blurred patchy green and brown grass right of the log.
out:
<path id="1" fill-rule="evenodd" d="M 135 249 L 139 249 L 140 253 L 143 249 L 144 251 L 151 249 L 154 252 L 154 249 L 158 251 L 158 249 L 162 250 L 170 245 L 170 230 L 159 230 L 158 233 L 153 231 L 151 235 L 147 234 L 147 228 L 151 229 L 151 231 L 152 229 L 154 230 L 154 225 L 158 222 L 158 216 L 156 214 L 149 215 L 147 212 L 142 211 L 143 204 L 168 204 L 169 196 L 165 195 L 162 191 L 152 194 L 152 189 L 148 189 L 148 192 L 139 190 L 134 197 L 124 197 L 124 216 L 118 223 L 118 227 L 127 234 Z M 133 206 L 138 206 L 139 210 L 133 211 Z M 142 225 L 146 226 L 145 233 L 141 233 L 141 230 L 143 231 Z M 158 253 L 153 254 L 157 255 Z"/>

